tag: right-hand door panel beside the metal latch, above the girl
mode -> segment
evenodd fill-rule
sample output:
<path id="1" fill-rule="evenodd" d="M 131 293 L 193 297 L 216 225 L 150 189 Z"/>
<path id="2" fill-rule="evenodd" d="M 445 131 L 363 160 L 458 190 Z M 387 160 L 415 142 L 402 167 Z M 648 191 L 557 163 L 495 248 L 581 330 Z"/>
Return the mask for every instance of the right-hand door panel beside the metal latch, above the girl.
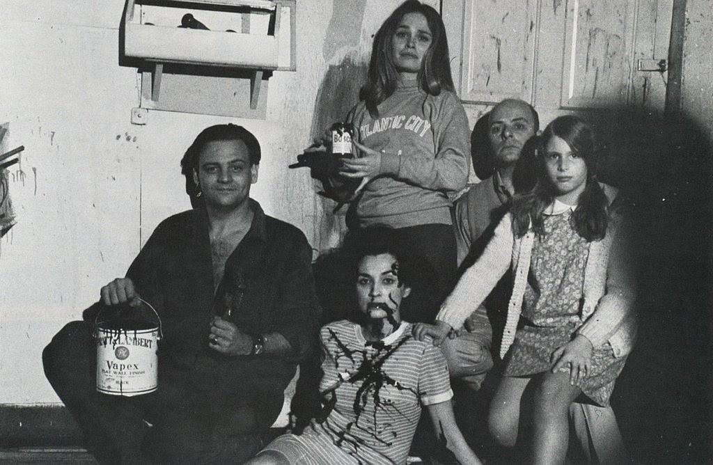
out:
<path id="1" fill-rule="evenodd" d="M 659 90 L 665 76 L 655 76 L 660 73 L 647 70 L 657 69 L 656 39 L 657 34 L 662 35 L 664 31 L 657 31 L 656 26 L 659 4 L 664 3 L 647 0 L 568 2 L 560 108 L 656 103 L 662 109 L 660 96 L 652 98 L 652 93 Z M 662 48 L 662 44 L 658 45 Z M 660 57 L 665 58 L 667 55 Z M 663 79 L 654 81 L 656 78 Z M 665 86 L 663 91 L 665 93 Z"/>

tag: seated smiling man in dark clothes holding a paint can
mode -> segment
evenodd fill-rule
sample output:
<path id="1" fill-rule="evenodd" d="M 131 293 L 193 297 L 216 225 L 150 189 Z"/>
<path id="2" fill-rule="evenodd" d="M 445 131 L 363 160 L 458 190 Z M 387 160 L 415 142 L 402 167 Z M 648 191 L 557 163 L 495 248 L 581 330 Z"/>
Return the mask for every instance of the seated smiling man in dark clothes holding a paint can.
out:
<path id="1" fill-rule="evenodd" d="M 312 249 L 250 198 L 260 145 L 206 128 L 181 165 L 193 210 L 158 225 L 103 305 L 149 302 L 161 320 L 158 390 L 96 392 L 94 320 L 71 322 L 45 372 L 102 463 L 240 463 L 264 445 L 284 389 L 317 338 Z"/>

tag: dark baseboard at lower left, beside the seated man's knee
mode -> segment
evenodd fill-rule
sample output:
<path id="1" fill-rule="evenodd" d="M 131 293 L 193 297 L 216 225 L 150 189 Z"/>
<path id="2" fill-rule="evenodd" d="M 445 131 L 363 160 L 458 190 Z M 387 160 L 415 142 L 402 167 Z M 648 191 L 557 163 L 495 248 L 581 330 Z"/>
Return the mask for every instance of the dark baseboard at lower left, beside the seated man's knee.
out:
<path id="1" fill-rule="evenodd" d="M 81 430 L 62 405 L 0 404 L 1 448 L 81 444 Z"/>

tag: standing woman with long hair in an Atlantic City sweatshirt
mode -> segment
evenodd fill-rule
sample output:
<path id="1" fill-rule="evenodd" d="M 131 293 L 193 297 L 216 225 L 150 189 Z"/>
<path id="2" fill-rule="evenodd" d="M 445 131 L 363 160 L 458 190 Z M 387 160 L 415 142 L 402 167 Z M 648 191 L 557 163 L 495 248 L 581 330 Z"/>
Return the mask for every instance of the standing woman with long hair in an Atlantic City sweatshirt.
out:
<path id="1" fill-rule="evenodd" d="M 436 278 L 411 321 L 432 321 L 456 271 L 449 195 L 468 178 L 470 129 L 453 92 L 446 29 L 436 10 L 401 4 L 374 37 L 369 81 L 349 112 L 359 158 L 342 174 L 364 178 L 351 227 L 399 230 Z M 428 270 L 430 268 L 430 270 Z M 425 276 L 424 276 L 425 277 Z M 421 299 L 419 299 L 421 300 Z"/>

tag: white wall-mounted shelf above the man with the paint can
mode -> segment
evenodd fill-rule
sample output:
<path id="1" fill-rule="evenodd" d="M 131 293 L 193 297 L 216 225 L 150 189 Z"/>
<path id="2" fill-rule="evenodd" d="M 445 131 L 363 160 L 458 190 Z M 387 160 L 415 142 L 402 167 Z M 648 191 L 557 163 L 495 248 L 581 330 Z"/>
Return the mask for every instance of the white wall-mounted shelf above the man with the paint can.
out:
<path id="1" fill-rule="evenodd" d="M 180 27 L 188 14 L 202 29 Z M 264 118 L 267 77 L 295 68 L 294 22 L 295 0 L 127 0 L 141 107 Z"/>

